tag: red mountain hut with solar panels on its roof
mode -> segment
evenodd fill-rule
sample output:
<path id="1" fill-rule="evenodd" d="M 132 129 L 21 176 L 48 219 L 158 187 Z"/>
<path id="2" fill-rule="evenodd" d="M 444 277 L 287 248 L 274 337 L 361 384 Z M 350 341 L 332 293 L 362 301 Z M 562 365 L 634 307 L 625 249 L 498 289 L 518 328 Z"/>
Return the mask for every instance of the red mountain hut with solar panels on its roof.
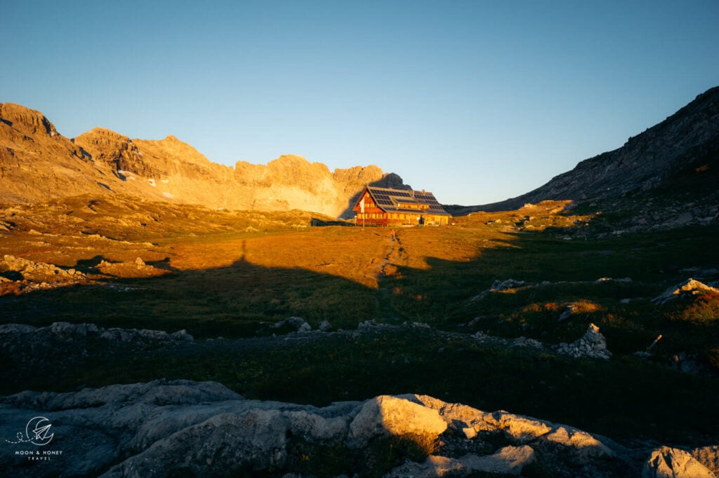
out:
<path id="1" fill-rule="evenodd" d="M 445 225 L 452 215 L 431 192 L 367 186 L 352 210 L 357 225 Z"/>

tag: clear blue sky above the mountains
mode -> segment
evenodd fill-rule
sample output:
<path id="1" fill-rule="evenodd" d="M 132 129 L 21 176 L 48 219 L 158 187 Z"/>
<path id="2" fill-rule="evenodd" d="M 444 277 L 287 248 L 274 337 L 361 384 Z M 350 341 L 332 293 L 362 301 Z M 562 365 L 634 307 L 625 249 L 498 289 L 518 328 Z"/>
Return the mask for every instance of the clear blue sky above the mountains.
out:
<path id="1" fill-rule="evenodd" d="M 3 1 L 0 102 L 484 204 L 719 85 L 719 1 Z"/>

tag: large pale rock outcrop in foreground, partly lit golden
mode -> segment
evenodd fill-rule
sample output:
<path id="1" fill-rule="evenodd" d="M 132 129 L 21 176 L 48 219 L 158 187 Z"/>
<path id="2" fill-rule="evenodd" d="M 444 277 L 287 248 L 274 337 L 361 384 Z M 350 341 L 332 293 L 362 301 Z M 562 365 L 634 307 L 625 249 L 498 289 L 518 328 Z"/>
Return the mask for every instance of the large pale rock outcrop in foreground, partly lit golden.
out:
<path id="1" fill-rule="evenodd" d="M 426 395 L 317 408 L 245 400 L 219 383 L 188 380 L 1 398 L 0 438 L 0 469 L 14 477 L 510 476 L 531 470 L 613 477 L 638 476 L 642 467 L 646 477 L 710 477 L 700 460 L 712 466 L 717 455 L 710 447 L 696 458 L 669 448 L 630 450 L 571 426 Z M 401 446 L 423 453 L 382 461 Z M 672 468 L 675 456 L 682 457 L 682 469 Z"/>

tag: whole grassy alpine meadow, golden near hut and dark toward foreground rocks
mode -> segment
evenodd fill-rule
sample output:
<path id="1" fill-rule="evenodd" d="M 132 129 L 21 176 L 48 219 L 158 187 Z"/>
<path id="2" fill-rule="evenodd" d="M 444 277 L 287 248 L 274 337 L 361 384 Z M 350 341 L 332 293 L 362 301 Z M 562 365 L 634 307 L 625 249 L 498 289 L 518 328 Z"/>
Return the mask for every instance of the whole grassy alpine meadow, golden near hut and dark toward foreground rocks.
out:
<path id="1" fill-rule="evenodd" d="M 719 296 L 651 300 L 690 277 L 719 278 L 715 226 L 597 239 L 585 234 L 591 215 L 547 203 L 398 228 L 392 240 L 388 228 L 313 228 L 307 212 L 93 201 L 14 210 L 0 257 L 84 276 L 41 286 L 0 270 L 0 322 L 186 329 L 196 342 L 88 343 L 84 353 L 61 351 L 66 363 L 6 367 L 3 394 L 156 378 L 318 406 L 423 393 L 617 439 L 719 440 Z M 515 286 L 489 291 L 509 279 Z M 334 332 L 272 327 L 288 317 Z M 366 321 L 386 327 L 358 329 Z M 610 360 L 553 352 L 590 323 Z M 476 332 L 544 348 L 484 343 Z M 659 335 L 648 357 L 635 355 Z M 676 357 L 695 373 L 676 370 Z"/>

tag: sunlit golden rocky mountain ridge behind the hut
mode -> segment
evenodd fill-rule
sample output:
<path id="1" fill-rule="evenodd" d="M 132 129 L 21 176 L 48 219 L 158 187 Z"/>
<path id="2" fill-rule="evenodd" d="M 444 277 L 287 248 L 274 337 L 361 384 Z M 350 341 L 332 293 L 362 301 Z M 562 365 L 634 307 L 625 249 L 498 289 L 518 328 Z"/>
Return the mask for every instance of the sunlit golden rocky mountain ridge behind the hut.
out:
<path id="1" fill-rule="evenodd" d="M 39 111 L 0 103 L 0 203 L 124 193 L 212 208 L 301 209 L 337 217 L 366 184 L 406 187 L 396 174 L 375 166 L 331 172 L 302 156 L 226 167 L 174 136 L 129 139 L 94 128 L 68 139 Z"/>

